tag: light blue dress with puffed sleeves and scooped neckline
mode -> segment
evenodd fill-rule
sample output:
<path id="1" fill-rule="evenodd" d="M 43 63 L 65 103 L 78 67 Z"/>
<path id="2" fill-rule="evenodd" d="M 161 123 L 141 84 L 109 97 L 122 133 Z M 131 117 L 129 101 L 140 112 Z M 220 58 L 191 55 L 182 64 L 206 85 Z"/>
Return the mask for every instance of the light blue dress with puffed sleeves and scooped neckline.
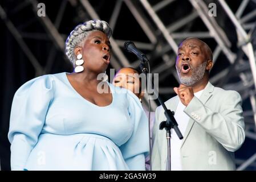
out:
<path id="1" fill-rule="evenodd" d="M 11 107 L 11 169 L 144 170 L 147 116 L 135 94 L 108 85 L 113 100 L 103 107 L 80 96 L 65 72 L 22 85 Z"/>

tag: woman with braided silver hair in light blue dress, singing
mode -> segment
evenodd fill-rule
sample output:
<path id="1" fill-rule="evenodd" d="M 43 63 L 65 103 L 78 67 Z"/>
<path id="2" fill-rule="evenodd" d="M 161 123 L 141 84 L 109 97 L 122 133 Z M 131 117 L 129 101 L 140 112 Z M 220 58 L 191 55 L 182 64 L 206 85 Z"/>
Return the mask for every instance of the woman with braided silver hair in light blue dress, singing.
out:
<path id="1" fill-rule="evenodd" d="M 66 40 L 75 72 L 36 77 L 17 90 L 12 170 L 145 169 L 148 123 L 139 98 L 98 79 L 109 64 L 111 32 L 101 20 L 79 24 Z"/>

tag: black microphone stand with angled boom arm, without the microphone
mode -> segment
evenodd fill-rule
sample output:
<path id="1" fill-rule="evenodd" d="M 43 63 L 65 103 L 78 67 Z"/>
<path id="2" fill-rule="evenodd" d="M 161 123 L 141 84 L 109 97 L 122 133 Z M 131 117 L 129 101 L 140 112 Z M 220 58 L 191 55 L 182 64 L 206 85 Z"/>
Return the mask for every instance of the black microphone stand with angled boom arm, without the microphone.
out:
<path id="1" fill-rule="evenodd" d="M 141 72 L 143 72 L 146 76 L 146 86 L 148 85 L 148 69 L 145 66 L 145 63 L 148 62 L 148 58 L 146 55 L 142 55 L 141 57 L 137 56 L 141 61 L 140 61 L 140 69 Z M 150 84 L 150 83 L 149 83 Z M 153 87 L 154 93 L 157 93 L 157 100 L 160 102 L 160 104 L 162 105 L 162 108 L 164 108 L 164 114 L 166 117 L 166 121 L 162 121 L 160 123 L 159 129 L 165 129 L 166 130 L 166 140 L 167 140 L 167 171 L 170 171 L 170 129 L 174 129 L 174 131 L 176 132 L 178 138 L 183 139 L 183 136 L 180 132 L 180 130 L 178 129 L 178 124 L 176 122 L 176 119 L 174 118 L 174 111 L 170 111 L 169 109 L 167 109 L 167 107 L 165 106 L 164 102 L 162 102 L 157 90 L 154 87 L 153 81 L 151 81 L 151 85 Z M 152 88 L 151 87 L 151 88 Z"/>

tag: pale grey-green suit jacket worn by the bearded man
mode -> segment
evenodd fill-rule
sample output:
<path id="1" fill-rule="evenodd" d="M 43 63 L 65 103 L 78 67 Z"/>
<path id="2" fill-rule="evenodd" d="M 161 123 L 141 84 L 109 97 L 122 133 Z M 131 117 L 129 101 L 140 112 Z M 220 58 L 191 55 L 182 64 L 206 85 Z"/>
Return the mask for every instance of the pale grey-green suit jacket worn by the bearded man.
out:
<path id="1" fill-rule="evenodd" d="M 166 107 L 176 111 L 178 101 L 178 96 L 170 98 Z M 182 170 L 235 169 L 234 151 L 245 140 L 241 105 L 239 93 L 214 87 L 210 82 L 199 99 L 193 97 L 184 109 L 190 119 L 180 148 Z M 166 170 L 166 131 L 159 130 L 162 121 L 166 117 L 159 106 L 153 130 L 153 170 Z"/>

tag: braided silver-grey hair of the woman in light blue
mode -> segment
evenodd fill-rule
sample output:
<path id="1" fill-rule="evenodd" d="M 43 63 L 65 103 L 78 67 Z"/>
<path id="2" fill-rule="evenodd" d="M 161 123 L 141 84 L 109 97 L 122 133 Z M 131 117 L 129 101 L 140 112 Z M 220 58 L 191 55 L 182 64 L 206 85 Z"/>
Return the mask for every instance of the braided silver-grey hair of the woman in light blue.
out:
<path id="1" fill-rule="evenodd" d="M 112 34 L 112 29 L 109 27 L 107 22 L 103 20 L 90 20 L 76 26 L 68 36 L 65 51 L 68 59 L 73 65 L 76 60 L 74 52 L 75 47 L 80 46 L 87 35 L 96 30 L 104 32 L 108 38 L 110 38 Z"/>

